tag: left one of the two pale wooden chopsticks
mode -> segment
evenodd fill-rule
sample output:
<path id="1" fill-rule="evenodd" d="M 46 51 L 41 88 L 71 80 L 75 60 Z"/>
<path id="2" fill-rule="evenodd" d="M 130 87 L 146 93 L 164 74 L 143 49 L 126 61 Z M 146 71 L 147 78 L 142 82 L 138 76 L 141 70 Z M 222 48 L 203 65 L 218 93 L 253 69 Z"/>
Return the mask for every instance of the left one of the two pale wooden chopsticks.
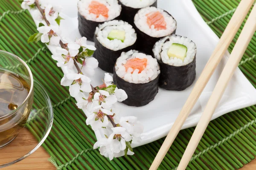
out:
<path id="1" fill-rule="evenodd" d="M 204 87 L 207 85 L 207 82 L 212 76 L 215 68 L 221 61 L 221 58 L 223 57 L 224 53 L 227 51 L 227 48 L 229 47 L 230 43 L 235 37 L 236 32 L 240 28 L 241 23 L 243 22 L 253 3 L 254 0 L 241 0 L 241 2 L 239 3 L 239 6 L 237 7 L 235 13 L 233 14 L 233 17 L 228 23 L 227 28 L 225 29 L 224 33 L 221 36 L 220 41 L 218 42 L 215 50 L 212 53 L 212 56 L 210 57 L 206 66 L 204 67 L 201 76 L 198 78 L 198 81 L 196 82 L 191 94 L 189 95 L 189 98 L 186 100 L 185 105 L 181 109 L 180 114 L 175 120 L 174 125 L 172 126 L 171 130 L 166 136 L 166 139 L 164 140 L 163 145 L 158 151 L 157 156 L 155 157 L 149 170 L 156 170 L 157 167 L 159 167 L 161 161 L 163 160 L 167 151 L 171 147 L 172 142 L 175 140 L 182 125 L 186 121 L 186 118 L 188 117 L 196 101 L 198 100 L 199 96 L 204 90 Z"/>

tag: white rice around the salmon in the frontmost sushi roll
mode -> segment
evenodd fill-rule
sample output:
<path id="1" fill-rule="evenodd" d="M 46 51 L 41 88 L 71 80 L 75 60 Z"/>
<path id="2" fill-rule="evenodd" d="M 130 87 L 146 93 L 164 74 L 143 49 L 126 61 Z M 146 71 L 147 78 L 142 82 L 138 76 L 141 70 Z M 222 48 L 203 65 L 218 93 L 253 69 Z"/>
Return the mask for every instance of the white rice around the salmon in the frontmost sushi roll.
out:
<path id="1" fill-rule="evenodd" d="M 146 68 L 139 73 L 138 69 L 135 69 L 133 73 L 132 68 L 128 68 L 127 71 L 125 69 L 125 63 L 129 59 L 133 58 L 146 58 L 148 60 Z M 147 83 L 155 78 L 157 78 L 158 74 L 160 74 L 160 68 L 157 63 L 157 59 L 151 57 L 150 55 L 146 55 L 144 53 L 139 53 L 139 51 L 131 50 L 128 52 L 122 52 L 121 56 L 116 60 L 115 65 L 116 74 L 124 79 L 127 82 L 139 84 L 139 83 Z"/>

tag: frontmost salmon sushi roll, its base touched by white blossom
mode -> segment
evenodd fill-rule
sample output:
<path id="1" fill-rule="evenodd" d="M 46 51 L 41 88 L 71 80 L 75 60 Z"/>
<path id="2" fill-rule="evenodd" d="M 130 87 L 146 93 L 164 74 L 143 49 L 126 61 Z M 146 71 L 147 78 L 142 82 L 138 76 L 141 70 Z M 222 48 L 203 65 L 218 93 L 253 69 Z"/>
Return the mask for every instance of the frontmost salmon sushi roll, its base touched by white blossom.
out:
<path id="1" fill-rule="evenodd" d="M 144 106 L 158 92 L 160 68 L 157 59 L 139 51 L 123 52 L 116 60 L 113 82 L 128 95 L 123 101 L 129 106 Z"/>

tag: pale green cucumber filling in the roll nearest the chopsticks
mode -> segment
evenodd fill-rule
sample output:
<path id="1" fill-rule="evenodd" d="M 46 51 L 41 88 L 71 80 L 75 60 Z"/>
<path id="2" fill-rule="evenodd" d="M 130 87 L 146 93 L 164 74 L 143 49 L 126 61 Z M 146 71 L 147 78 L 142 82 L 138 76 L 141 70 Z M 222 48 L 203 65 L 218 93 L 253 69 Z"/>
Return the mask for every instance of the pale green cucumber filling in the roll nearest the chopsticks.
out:
<path id="1" fill-rule="evenodd" d="M 184 58 L 186 57 L 186 52 L 188 51 L 188 48 L 185 45 L 173 43 L 171 47 L 169 48 L 167 55 L 170 57 L 176 57 L 178 59 L 181 59 L 184 61 Z"/>

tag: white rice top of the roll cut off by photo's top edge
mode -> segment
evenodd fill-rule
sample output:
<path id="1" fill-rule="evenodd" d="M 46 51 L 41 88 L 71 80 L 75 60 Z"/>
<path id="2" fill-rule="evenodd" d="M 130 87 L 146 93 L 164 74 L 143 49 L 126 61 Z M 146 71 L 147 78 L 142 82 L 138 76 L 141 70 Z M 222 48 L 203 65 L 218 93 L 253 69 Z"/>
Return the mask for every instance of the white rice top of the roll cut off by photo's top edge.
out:
<path id="1" fill-rule="evenodd" d="M 131 8 L 145 8 L 151 6 L 157 0 L 120 0 L 120 2 Z"/>

